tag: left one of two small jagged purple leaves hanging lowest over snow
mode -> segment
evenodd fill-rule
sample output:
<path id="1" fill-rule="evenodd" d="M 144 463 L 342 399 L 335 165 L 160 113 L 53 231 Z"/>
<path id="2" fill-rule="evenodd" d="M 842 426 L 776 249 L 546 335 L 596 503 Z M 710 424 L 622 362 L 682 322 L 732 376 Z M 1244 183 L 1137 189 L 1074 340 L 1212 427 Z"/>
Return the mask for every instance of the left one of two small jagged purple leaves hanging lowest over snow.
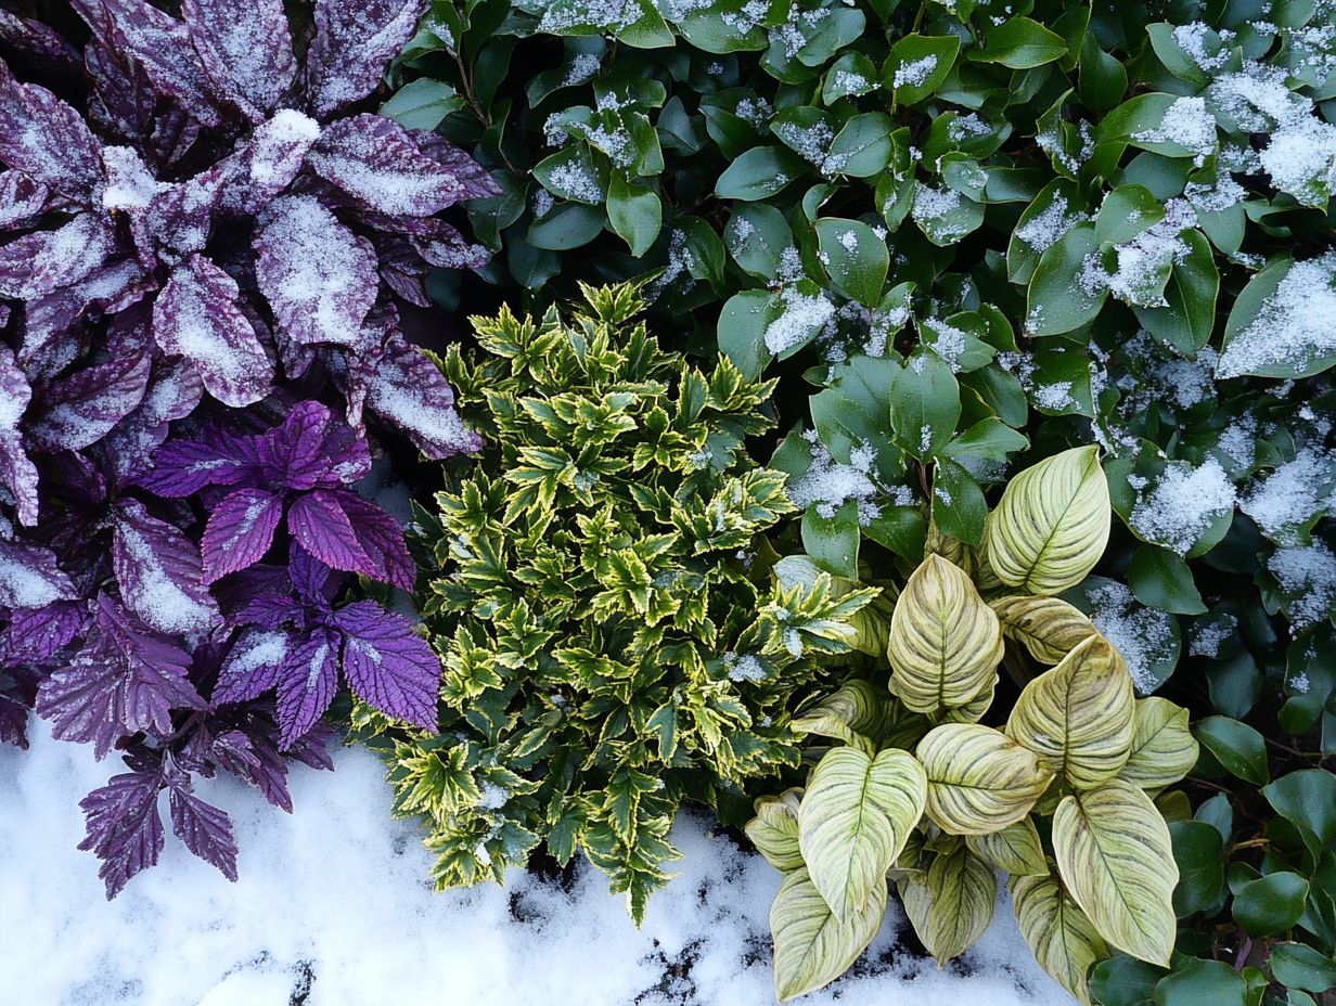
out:
<path id="1" fill-rule="evenodd" d="M 79 848 L 91 850 L 102 860 L 98 876 L 107 886 L 107 900 L 115 898 L 131 876 L 154 866 L 163 851 L 163 823 L 158 816 L 160 790 L 158 774 L 124 772 L 79 802 L 87 826 L 87 838 Z"/>

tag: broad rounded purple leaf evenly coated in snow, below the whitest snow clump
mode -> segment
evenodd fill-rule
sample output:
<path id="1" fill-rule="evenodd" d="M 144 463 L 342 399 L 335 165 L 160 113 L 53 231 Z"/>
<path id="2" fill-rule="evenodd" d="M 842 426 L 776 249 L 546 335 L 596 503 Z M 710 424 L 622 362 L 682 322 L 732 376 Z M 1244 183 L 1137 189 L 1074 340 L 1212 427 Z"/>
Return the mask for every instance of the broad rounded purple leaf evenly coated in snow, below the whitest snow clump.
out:
<path id="1" fill-rule="evenodd" d="M 310 195 L 275 199 L 255 238 L 255 278 L 287 334 L 361 347 L 375 303 L 375 250 Z"/>

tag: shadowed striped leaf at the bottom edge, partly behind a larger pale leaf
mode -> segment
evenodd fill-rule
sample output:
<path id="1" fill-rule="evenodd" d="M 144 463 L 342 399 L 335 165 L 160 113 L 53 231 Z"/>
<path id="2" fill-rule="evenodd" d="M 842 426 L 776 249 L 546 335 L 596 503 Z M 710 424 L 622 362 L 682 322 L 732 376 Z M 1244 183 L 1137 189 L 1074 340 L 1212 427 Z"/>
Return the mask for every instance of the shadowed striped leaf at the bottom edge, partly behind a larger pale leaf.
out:
<path id="1" fill-rule="evenodd" d="M 1109 947 L 1081 906 L 1047 874 L 1017 876 L 1010 886 L 1015 920 L 1034 959 L 1058 985 L 1090 1006 L 1086 973 L 1109 957 Z"/>

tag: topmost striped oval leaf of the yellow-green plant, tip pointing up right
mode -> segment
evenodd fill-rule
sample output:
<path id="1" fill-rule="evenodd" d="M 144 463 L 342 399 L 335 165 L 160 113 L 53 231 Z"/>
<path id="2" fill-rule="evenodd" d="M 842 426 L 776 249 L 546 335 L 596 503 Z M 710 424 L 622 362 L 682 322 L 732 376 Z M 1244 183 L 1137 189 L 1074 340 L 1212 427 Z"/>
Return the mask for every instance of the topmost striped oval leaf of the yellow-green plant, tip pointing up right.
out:
<path id="1" fill-rule="evenodd" d="M 1094 569 L 1109 540 L 1100 449 L 1074 448 L 1013 478 L 989 518 L 985 548 L 1002 582 L 1057 595 Z"/>

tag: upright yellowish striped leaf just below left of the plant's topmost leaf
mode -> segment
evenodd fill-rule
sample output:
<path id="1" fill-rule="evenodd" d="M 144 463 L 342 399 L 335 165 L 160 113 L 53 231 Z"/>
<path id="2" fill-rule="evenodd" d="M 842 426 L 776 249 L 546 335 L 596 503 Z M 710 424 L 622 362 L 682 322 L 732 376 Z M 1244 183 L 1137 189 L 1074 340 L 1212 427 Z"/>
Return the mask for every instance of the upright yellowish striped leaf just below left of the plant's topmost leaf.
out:
<path id="1" fill-rule="evenodd" d="M 965 572 L 930 554 L 895 601 L 891 691 L 915 712 L 966 705 L 993 681 L 1002 628 Z"/>

